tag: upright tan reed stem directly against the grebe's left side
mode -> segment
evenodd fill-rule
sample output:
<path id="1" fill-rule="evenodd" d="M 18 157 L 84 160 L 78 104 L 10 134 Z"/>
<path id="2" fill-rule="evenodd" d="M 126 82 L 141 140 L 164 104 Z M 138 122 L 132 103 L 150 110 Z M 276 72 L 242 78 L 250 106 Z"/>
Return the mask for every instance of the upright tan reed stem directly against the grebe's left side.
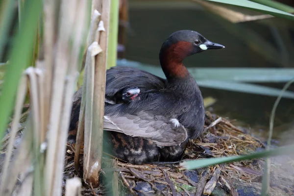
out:
<path id="1" fill-rule="evenodd" d="M 95 59 L 95 76 L 94 76 L 94 98 L 93 98 L 93 126 L 91 138 L 91 157 L 92 159 L 92 175 L 97 175 L 101 170 L 102 151 L 103 151 L 103 117 L 104 117 L 104 98 L 105 98 L 105 80 L 107 67 L 107 46 L 108 46 L 108 26 L 110 16 L 110 1 L 102 0 L 101 22 L 98 26 L 100 37 L 99 45 L 103 50 Z M 103 24 L 104 23 L 104 27 Z M 104 29 L 105 28 L 105 29 Z M 94 167 L 96 167 L 95 170 Z M 98 186 L 98 183 L 97 183 Z"/>

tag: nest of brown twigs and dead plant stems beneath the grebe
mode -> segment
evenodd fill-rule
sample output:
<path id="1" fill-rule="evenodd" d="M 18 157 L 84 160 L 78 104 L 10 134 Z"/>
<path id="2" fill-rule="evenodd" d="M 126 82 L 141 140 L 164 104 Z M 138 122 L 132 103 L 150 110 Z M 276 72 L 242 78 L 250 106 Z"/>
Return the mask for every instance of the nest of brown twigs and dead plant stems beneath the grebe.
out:
<path id="1" fill-rule="evenodd" d="M 259 139 L 246 133 L 245 129 L 237 128 L 227 119 L 210 113 L 206 113 L 205 129 L 202 136 L 190 141 L 182 160 L 248 154 L 265 147 Z M 73 156 L 74 145 L 68 145 L 65 178 L 74 175 Z M 82 165 L 82 160 L 80 161 Z M 254 196 L 259 195 L 261 189 L 263 162 L 260 160 L 234 162 L 193 171 L 185 170 L 180 164 L 132 165 L 109 158 L 104 158 L 104 162 L 108 163 L 108 167 L 102 171 L 102 175 L 112 167 L 114 176 L 118 176 L 119 187 L 123 188 L 119 195 Z M 82 176 L 81 173 L 78 175 Z M 289 179 L 285 179 L 287 180 Z M 292 185 L 293 180 L 292 178 Z M 107 183 L 102 184 L 106 186 Z M 271 195 L 293 194 L 291 182 L 288 187 L 284 183 L 280 184 L 283 187 L 275 186 L 271 189 Z M 103 185 L 93 188 L 84 183 L 82 194 L 102 195 L 106 190 L 108 188 Z"/>

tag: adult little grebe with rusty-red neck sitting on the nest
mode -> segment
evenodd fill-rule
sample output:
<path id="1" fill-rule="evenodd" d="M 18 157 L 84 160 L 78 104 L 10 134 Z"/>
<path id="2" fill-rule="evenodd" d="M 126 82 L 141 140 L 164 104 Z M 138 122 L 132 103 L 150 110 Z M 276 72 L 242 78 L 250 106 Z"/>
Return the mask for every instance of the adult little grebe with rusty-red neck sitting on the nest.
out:
<path id="1" fill-rule="evenodd" d="M 132 101 L 105 101 L 104 130 L 109 131 L 116 157 L 132 164 L 181 158 L 188 140 L 202 133 L 205 115 L 199 87 L 182 61 L 207 49 L 222 48 L 196 31 L 180 30 L 160 49 L 167 79 L 130 67 L 107 70 L 105 99 L 122 98 L 130 86 L 140 91 Z M 80 98 L 74 100 L 70 136 L 76 134 L 79 104 Z"/>

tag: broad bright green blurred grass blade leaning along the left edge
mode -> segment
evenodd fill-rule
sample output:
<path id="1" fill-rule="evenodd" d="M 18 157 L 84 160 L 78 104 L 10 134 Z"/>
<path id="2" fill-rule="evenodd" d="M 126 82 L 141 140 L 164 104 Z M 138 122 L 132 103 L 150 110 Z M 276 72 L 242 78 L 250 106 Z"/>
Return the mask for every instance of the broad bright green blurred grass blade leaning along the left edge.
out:
<path id="1" fill-rule="evenodd" d="M 4 75 L 0 95 L 0 136 L 6 128 L 22 71 L 26 67 L 34 45 L 35 32 L 41 9 L 40 0 L 27 0 L 23 22 L 9 55 L 9 66 Z M 2 37 L 1 37 L 2 38 Z"/>

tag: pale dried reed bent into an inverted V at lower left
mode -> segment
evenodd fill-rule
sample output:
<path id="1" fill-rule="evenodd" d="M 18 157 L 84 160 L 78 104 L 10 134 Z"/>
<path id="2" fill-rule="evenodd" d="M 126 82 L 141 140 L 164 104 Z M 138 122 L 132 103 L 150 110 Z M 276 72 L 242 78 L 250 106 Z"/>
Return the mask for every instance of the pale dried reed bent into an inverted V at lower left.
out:
<path id="1" fill-rule="evenodd" d="M 29 82 L 30 82 L 30 86 L 31 86 L 31 88 L 30 88 L 31 116 L 29 117 L 27 123 L 32 123 L 32 124 L 30 124 L 30 126 L 28 126 L 25 135 L 33 134 L 34 140 L 32 140 L 32 137 L 23 137 L 21 147 L 19 147 L 19 149 L 18 149 L 20 151 L 18 152 L 18 155 L 16 156 L 14 163 L 9 168 L 9 170 L 10 170 L 9 177 L 10 178 L 7 180 L 8 184 L 6 183 L 6 186 L 5 186 L 5 184 L 3 183 L 3 186 L 6 187 L 6 190 L 4 190 L 4 193 L 6 193 L 8 195 L 11 194 L 11 192 L 13 190 L 13 186 L 16 181 L 16 176 L 18 174 L 24 174 L 24 172 L 28 170 L 27 168 L 31 165 L 32 161 L 30 159 L 30 157 L 31 157 L 30 152 L 32 150 L 30 149 L 30 147 L 33 147 L 33 152 L 34 152 L 34 156 L 33 156 L 34 157 L 33 169 L 34 169 L 34 177 L 35 177 L 34 182 L 37 184 L 34 188 L 34 192 L 37 195 L 40 195 L 42 192 L 42 170 L 40 169 L 40 162 L 37 161 L 38 157 L 39 157 L 39 147 L 40 147 L 40 135 L 39 135 L 39 130 L 40 130 L 39 115 L 40 115 L 40 113 L 38 110 L 38 108 L 39 108 L 39 96 L 38 96 L 39 82 L 38 82 L 37 74 L 42 75 L 42 73 L 40 72 L 39 69 L 34 69 L 34 68 L 30 67 L 30 68 L 26 69 L 25 74 L 26 74 L 26 76 L 23 77 L 23 79 L 21 80 L 22 83 L 20 84 L 20 87 L 19 87 L 19 91 L 22 91 L 22 92 L 18 94 L 18 96 L 20 96 L 20 97 L 18 97 L 18 100 L 21 99 L 22 103 L 18 103 L 18 104 L 21 104 L 21 106 L 22 106 L 22 104 L 24 102 L 25 93 L 26 93 L 26 85 L 27 85 L 27 78 L 26 77 L 28 77 Z M 22 109 L 22 107 L 21 107 L 21 109 Z M 21 111 L 16 112 L 16 115 L 20 115 L 18 113 L 21 113 Z M 16 124 L 19 123 L 19 119 L 20 119 L 20 117 L 17 117 L 15 119 L 15 121 L 13 122 L 13 126 L 15 126 L 14 123 L 16 123 Z M 13 146 L 13 144 L 14 144 L 14 137 L 15 137 L 14 132 L 16 132 L 16 131 L 15 130 L 12 131 L 12 134 L 11 134 L 12 137 L 11 137 L 9 146 L 11 146 L 11 145 Z M 8 150 L 9 150 L 8 153 L 12 153 L 11 149 L 8 149 Z M 9 162 L 9 160 L 10 160 L 10 155 L 8 155 L 6 157 L 6 162 Z M 16 162 L 19 162 L 19 163 L 16 163 Z M 4 173 L 4 175 L 6 176 L 5 173 Z M 2 178 L 2 179 L 6 180 L 6 178 Z M 31 182 L 32 182 L 32 180 L 26 179 L 25 183 L 21 183 L 20 189 L 21 190 L 23 190 L 23 189 L 32 190 Z M 41 184 L 41 186 L 40 186 L 40 184 Z M 29 186 L 29 187 L 27 187 L 27 186 Z"/>

